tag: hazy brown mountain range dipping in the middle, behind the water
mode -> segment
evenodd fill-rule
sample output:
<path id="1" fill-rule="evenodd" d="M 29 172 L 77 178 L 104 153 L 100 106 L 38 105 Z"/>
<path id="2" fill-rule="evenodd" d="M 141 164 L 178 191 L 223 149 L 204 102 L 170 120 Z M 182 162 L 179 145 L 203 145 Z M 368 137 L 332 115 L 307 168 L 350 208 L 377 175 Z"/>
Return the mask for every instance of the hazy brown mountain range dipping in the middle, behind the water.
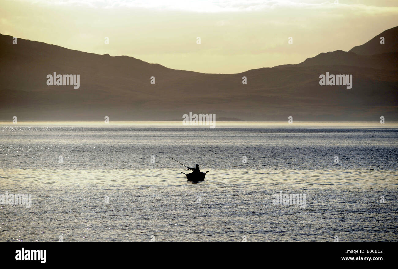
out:
<path id="1" fill-rule="evenodd" d="M 392 29 L 383 32 L 386 40 L 396 36 L 398 27 Z M 398 120 L 398 51 L 384 50 L 337 50 L 296 65 L 203 74 L 23 39 L 13 45 L 0 35 L 0 120 L 167 120 L 189 111 L 242 120 Z M 80 89 L 47 86 L 53 72 L 80 74 Z M 326 72 L 353 74 L 353 88 L 320 86 Z"/>

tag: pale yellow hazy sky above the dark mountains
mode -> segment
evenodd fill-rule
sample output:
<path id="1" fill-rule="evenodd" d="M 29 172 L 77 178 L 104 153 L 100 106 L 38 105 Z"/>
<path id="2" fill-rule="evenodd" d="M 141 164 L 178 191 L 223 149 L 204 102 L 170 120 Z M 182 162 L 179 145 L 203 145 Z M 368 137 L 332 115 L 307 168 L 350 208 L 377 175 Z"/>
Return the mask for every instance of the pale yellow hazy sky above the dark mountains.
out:
<path id="1" fill-rule="evenodd" d="M 398 0 L 0 0 L 3 35 L 203 73 L 298 64 L 397 25 Z"/>

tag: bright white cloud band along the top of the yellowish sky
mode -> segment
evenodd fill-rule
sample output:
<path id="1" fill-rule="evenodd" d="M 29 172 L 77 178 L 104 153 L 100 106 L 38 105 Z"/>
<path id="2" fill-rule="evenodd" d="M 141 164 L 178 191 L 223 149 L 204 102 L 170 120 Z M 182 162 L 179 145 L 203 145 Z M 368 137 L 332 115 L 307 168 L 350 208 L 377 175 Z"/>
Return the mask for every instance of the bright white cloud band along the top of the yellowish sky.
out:
<path id="1" fill-rule="evenodd" d="M 59 6 L 86 6 L 90 8 L 146 8 L 156 10 L 179 10 L 187 12 L 253 12 L 266 11 L 278 8 L 300 9 L 355 9 L 383 12 L 395 10 L 396 4 L 391 0 L 355 1 L 339 0 L 20 0 L 32 4 L 59 5 Z M 367 4 L 364 4 L 367 3 Z"/>

